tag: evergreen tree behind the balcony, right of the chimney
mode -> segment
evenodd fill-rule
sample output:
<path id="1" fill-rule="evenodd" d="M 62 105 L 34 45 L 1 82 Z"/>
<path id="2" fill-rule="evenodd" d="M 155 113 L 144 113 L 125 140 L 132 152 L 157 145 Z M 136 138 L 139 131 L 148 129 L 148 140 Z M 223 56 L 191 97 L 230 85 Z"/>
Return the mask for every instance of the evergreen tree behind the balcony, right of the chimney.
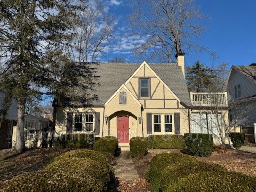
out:
<path id="1" fill-rule="evenodd" d="M 214 90 L 213 70 L 197 60 L 192 67 L 187 66 L 186 81 L 189 92 L 210 92 Z"/>

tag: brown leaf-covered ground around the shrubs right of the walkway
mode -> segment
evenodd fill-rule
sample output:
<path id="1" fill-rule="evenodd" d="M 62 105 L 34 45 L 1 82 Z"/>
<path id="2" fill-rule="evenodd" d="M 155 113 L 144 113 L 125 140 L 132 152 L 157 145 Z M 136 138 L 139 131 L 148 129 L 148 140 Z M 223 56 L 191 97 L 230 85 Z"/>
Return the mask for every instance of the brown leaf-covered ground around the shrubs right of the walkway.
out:
<path id="1" fill-rule="evenodd" d="M 150 149 L 148 154 L 142 159 L 133 158 L 136 169 L 141 178 L 148 169 L 151 159 L 162 152 L 185 153 L 188 151 L 183 149 Z M 202 161 L 220 164 L 228 169 L 228 171 L 241 172 L 250 176 L 256 176 L 256 154 L 239 150 L 228 149 L 224 154 L 213 152 L 210 157 L 197 157 Z"/>

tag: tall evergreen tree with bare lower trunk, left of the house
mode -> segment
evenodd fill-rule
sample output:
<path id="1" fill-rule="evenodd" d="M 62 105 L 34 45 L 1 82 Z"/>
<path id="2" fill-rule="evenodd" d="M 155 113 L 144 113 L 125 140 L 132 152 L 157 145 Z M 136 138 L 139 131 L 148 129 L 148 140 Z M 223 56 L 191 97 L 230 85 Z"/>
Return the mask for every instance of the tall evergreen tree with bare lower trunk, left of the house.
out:
<path id="1" fill-rule="evenodd" d="M 72 24 L 84 9 L 79 0 L 0 0 L 0 92 L 2 120 L 11 98 L 18 104 L 16 150 L 25 150 L 24 113 L 28 97 L 54 96 L 80 101 L 92 87 L 93 69 L 79 74 L 70 54 Z M 78 18 L 79 19 L 79 18 Z M 76 85 L 76 86 L 74 86 Z"/>

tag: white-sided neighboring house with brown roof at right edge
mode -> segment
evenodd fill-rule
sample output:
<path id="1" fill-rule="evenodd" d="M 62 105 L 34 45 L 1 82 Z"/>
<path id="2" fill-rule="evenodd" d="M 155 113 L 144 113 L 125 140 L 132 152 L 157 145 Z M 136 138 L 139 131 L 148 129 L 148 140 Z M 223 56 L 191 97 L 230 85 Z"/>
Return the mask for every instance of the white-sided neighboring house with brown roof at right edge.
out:
<path id="1" fill-rule="evenodd" d="M 229 119 L 240 126 L 245 140 L 256 141 L 256 63 L 249 66 L 232 66 L 227 78 L 228 104 L 236 102 Z"/>

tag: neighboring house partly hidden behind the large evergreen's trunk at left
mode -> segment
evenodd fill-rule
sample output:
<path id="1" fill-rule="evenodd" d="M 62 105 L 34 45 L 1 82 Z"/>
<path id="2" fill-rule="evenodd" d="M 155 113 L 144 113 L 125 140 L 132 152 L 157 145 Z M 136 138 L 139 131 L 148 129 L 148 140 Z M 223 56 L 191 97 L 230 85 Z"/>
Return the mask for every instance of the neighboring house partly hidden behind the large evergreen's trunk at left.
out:
<path id="1" fill-rule="evenodd" d="M 4 94 L 0 93 L 0 109 L 4 102 Z M 1 118 L 1 117 L 0 117 Z M 16 124 L 17 124 L 17 101 L 12 99 L 12 105 L 8 110 L 4 122 L 0 128 L 0 150 L 15 149 L 16 144 Z M 32 134 L 49 126 L 49 119 L 39 116 L 25 115 L 25 145 L 27 148 L 33 144 L 34 136 Z M 41 142 L 39 140 L 38 145 Z"/>

